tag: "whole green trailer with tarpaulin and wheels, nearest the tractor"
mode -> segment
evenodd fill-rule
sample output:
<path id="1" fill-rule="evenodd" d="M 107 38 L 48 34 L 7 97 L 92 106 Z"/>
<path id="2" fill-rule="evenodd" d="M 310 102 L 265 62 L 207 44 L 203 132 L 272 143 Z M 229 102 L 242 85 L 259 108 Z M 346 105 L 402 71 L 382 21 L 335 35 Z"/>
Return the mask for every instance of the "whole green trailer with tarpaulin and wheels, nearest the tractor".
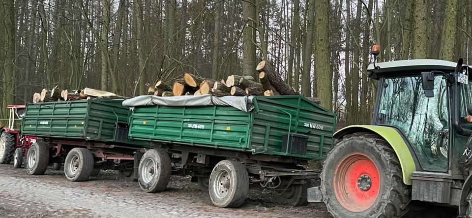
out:
<path id="1" fill-rule="evenodd" d="M 163 190 L 175 162 L 216 206 L 238 207 L 248 188 L 300 204 L 319 173 L 302 166 L 333 148 L 336 115 L 299 95 L 138 98 L 123 104 L 132 111 L 129 138 L 154 146 L 139 165 L 144 191 Z"/>

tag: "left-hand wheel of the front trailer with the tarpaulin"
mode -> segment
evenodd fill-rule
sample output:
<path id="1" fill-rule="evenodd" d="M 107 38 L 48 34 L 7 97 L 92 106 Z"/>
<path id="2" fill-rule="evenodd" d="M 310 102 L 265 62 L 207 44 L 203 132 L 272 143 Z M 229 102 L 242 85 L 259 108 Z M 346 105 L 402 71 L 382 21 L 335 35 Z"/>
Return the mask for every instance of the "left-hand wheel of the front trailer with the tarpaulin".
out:
<path id="1" fill-rule="evenodd" d="M 148 150 L 138 168 L 139 187 L 146 192 L 160 192 L 166 189 L 171 179 L 171 158 L 161 149 Z"/>

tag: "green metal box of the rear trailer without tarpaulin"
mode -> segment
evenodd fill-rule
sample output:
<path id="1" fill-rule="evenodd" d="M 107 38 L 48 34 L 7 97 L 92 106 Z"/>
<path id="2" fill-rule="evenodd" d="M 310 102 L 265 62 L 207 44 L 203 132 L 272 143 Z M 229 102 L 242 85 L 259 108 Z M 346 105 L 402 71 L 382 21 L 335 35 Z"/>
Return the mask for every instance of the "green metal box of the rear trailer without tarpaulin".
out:
<path id="1" fill-rule="evenodd" d="M 129 109 L 121 105 L 122 101 L 91 99 L 29 103 L 21 132 L 43 138 L 142 145 L 143 142 L 126 140 L 126 135 L 125 140 L 116 137 L 117 123 L 128 124 L 129 120 Z"/>

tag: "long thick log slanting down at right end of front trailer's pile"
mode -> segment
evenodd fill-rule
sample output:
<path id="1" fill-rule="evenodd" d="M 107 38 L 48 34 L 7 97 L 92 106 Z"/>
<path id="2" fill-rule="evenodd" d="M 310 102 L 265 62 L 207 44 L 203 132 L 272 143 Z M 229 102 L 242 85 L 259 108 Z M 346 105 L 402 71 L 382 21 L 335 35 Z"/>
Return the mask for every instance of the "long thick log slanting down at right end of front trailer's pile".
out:
<path id="1" fill-rule="evenodd" d="M 266 81 L 272 87 L 274 87 L 278 93 L 283 95 L 295 94 L 293 88 L 290 87 L 287 83 L 285 83 L 282 78 L 280 78 L 278 73 L 275 71 L 274 67 L 266 60 L 259 62 L 259 64 L 257 64 L 256 70 L 260 72 L 259 80 L 261 80 L 261 83 L 263 83 L 263 79 L 266 79 Z"/>

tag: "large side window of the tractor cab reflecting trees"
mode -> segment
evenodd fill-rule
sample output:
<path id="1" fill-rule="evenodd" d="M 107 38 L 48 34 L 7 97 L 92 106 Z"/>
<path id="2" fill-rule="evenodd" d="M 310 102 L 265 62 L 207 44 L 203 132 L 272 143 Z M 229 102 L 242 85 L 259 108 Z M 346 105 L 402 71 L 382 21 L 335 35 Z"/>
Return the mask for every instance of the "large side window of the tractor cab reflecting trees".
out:
<path id="1" fill-rule="evenodd" d="M 399 128 L 427 171 L 447 171 L 449 113 L 446 81 L 435 77 L 434 97 L 426 97 L 421 77 L 386 78 L 379 124 Z"/>

